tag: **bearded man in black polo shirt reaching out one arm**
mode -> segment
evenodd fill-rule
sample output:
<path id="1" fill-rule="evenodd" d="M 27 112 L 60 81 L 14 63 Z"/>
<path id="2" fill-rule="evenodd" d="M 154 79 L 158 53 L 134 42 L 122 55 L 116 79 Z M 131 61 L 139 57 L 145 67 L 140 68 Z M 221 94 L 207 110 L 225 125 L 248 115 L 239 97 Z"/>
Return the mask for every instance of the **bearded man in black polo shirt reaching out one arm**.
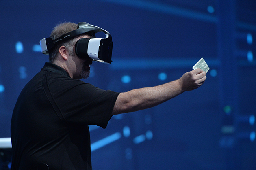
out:
<path id="1" fill-rule="evenodd" d="M 51 37 L 77 28 L 75 23 L 59 24 Z M 79 80 L 89 77 L 93 61 L 74 52 L 81 38 L 92 36 L 85 33 L 57 43 L 49 52 L 50 63 L 22 90 L 11 122 L 12 170 L 91 170 L 88 125 L 106 128 L 112 115 L 156 106 L 206 80 L 206 72 L 196 69 L 156 87 L 125 93 L 99 89 Z"/>

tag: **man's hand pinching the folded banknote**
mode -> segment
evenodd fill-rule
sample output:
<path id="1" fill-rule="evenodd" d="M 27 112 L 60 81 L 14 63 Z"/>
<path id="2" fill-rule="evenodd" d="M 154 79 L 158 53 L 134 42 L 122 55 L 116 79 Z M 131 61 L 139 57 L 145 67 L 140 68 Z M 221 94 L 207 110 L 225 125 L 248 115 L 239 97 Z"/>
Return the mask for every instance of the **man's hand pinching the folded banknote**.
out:
<path id="1" fill-rule="evenodd" d="M 182 92 L 197 89 L 206 80 L 206 72 L 197 68 L 193 71 L 183 74 L 178 81 L 182 87 Z"/>

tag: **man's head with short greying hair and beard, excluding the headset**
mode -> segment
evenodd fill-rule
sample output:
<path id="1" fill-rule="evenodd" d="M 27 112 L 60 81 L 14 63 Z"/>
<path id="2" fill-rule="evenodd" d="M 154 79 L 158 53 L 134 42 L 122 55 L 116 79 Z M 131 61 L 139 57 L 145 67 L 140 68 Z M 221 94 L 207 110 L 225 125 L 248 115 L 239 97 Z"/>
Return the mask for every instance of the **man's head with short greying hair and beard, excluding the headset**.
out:
<path id="1" fill-rule="evenodd" d="M 56 39 L 76 29 L 78 29 L 78 24 L 76 23 L 60 23 L 53 29 L 50 37 Z M 80 38 L 92 37 L 86 33 L 81 34 L 70 40 L 57 43 L 53 49 L 49 50 L 50 63 L 61 66 L 74 79 L 88 78 L 90 73 L 89 65 L 92 64 L 92 60 L 89 57 L 81 59 L 75 53 L 74 46 Z"/>

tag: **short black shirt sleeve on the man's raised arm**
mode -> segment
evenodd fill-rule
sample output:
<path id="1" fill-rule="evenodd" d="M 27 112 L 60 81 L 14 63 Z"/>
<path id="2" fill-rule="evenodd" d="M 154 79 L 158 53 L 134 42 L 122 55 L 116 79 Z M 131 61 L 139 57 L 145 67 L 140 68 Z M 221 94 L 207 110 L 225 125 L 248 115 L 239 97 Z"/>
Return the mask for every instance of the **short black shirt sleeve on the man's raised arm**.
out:
<path id="1" fill-rule="evenodd" d="M 49 86 L 67 123 L 106 128 L 119 93 L 67 77 L 50 79 Z"/>

